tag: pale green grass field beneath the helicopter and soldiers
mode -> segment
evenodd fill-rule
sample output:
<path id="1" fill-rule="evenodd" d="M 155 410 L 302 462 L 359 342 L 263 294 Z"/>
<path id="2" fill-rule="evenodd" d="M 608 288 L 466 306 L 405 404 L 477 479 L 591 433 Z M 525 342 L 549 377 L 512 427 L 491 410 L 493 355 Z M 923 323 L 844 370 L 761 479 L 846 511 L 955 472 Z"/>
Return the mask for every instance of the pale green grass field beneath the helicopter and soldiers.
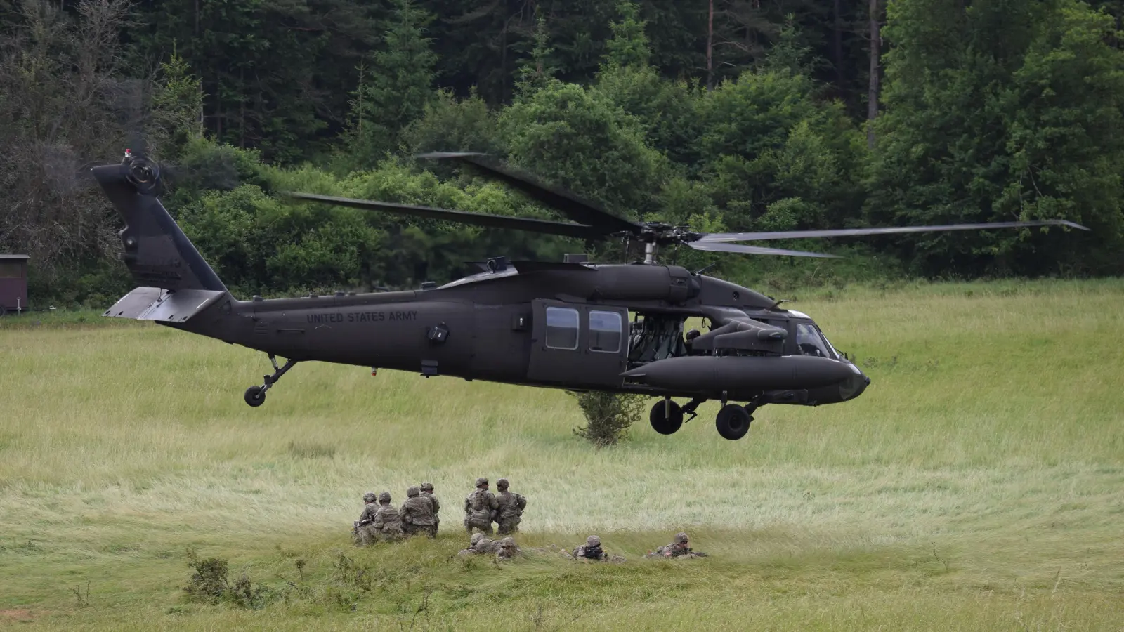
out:
<path id="1" fill-rule="evenodd" d="M 300 364 L 253 409 L 250 350 L 7 319 L 0 628 L 1124 630 L 1122 306 L 1121 280 L 801 295 L 862 397 L 609 450 L 561 391 Z M 522 544 L 628 561 L 455 557 L 478 476 L 528 497 Z M 436 541 L 351 544 L 364 491 L 423 480 Z M 640 559 L 680 530 L 711 557 Z M 187 599 L 189 548 L 262 605 Z"/>

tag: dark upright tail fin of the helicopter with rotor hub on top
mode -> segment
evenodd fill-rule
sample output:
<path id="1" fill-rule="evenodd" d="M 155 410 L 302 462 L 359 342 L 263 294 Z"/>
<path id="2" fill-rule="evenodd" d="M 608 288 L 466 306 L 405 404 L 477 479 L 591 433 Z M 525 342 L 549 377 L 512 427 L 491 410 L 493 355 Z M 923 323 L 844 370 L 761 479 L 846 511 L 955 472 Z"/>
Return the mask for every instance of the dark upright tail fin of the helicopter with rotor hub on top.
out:
<path id="1" fill-rule="evenodd" d="M 144 162 L 142 162 L 144 161 Z M 209 290 L 228 294 L 154 192 L 158 171 L 145 159 L 96 166 L 94 179 L 125 220 L 118 232 L 121 261 L 138 286 L 171 292 Z M 142 178 L 137 178 L 143 173 Z"/>

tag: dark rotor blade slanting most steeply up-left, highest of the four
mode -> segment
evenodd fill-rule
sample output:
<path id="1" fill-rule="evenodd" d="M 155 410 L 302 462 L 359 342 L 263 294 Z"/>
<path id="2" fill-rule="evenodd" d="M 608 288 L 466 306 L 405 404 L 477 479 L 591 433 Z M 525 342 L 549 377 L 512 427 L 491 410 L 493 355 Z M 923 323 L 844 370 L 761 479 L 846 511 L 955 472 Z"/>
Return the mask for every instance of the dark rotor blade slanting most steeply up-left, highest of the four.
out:
<path id="1" fill-rule="evenodd" d="M 525 171 L 502 164 L 489 154 L 474 152 L 433 152 L 419 154 L 415 157 L 453 160 L 473 164 L 483 170 L 488 175 L 505 182 L 514 189 L 523 191 L 532 199 L 556 209 L 570 219 L 592 226 L 607 235 L 614 233 L 638 234 L 643 231 L 641 224 L 622 219 L 605 210 L 596 202 L 581 199 L 573 192 L 561 187 L 547 184 Z"/>

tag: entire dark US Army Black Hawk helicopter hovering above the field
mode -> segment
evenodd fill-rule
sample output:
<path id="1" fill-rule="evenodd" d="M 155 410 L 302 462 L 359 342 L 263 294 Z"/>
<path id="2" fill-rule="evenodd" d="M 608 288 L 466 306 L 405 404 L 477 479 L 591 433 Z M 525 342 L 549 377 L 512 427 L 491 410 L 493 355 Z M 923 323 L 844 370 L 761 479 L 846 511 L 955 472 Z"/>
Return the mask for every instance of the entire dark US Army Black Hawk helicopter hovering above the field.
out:
<path id="1" fill-rule="evenodd" d="M 471 164 L 574 223 L 463 213 L 311 193 L 294 199 L 415 217 L 644 243 L 644 261 L 598 264 L 583 255 L 561 262 L 496 258 L 481 271 L 420 290 L 239 300 L 180 231 L 157 199 L 158 165 L 126 152 L 121 164 L 93 175 L 125 222 L 121 260 L 139 287 L 105 315 L 153 320 L 269 354 L 274 372 L 246 389 L 260 406 L 298 362 L 321 361 L 418 371 L 514 385 L 633 392 L 662 397 L 653 428 L 671 434 L 685 415 L 715 399 L 718 433 L 749 431 L 765 404 L 816 406 L 854 399 L 870 379 L 841 355 L 807 315 L 778 300 L 679 265 L 656 262 L 660 246 L 790 256 L 832 256 L 731 242 L 1066 225 L 1066 220 L 1005 222 L 773 233 L 696 233 L 632 222 L 560 188 L 544 184 L 483 154 L 424 157 Z M 634 314 L 629 318 L 629 313 Z M 688 318 L 707 332 L 685 334 Z M 277 356 L 287 359 L 279 367 Z M 680 406 L 672 398 L 689 399 Z M 736 403 L 745 403 L 744 406 Z"/>

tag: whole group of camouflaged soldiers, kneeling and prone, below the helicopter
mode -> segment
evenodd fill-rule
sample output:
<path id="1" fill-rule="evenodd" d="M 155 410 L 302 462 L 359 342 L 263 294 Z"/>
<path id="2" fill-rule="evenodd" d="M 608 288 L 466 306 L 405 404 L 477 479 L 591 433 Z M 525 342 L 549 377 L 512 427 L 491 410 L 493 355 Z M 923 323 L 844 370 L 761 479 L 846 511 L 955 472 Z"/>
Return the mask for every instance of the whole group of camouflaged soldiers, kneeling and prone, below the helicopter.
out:
<path id="1" fill-rule="evenodd" d="M 518 531 L 523 521 L 523 512 L 527 508 L 527 498 L 522 494 L 510 491 L 508 480 L 496 481 L 498 494 L 488 490 L 488 479 L 478 478 L 475 489 L 464 498 L 464 530 L 470 534 L 469 548 L 460 554 L 495 554 L 497 559 L 510 559 L 523 552 L 510 534 Z M 406 502 L 395 508 L 390 504 L 390 493 L 383 491 L 375 496 L 373 491 L 363 495 L 363 513 L 352 525 L 352 534 L 356 544 L 373 544 L 378 541 L 398 540 L 416 534 L 429 538 L 437 535 L 441 525 L 441 503 L 433 493 L 432 482 L 423 482 L 406 490 Z M 505 538 L 491 540 L 488 535 L 496 531 Z M 609 554 L 601 548 L 601 539 L 590 535 L 586 543 L 572 551 L 559 549 L 551 544 L 536 551 L 558 551 L 574 560 L 624 561 L 619 554 Z M 686 533 L 677 533 L 673 541 L 649 552 L 645 558 L 701 558 L 706 553 L 692 551 Z"/>

